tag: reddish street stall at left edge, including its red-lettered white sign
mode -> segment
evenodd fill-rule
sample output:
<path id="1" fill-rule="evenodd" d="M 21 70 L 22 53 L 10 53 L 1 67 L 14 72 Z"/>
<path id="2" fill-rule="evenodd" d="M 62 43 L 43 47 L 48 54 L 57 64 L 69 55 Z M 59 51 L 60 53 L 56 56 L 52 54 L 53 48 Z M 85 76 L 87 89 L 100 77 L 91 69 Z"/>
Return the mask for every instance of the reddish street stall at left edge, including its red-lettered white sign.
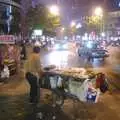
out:
<path id="1" fill-rule="evenodd" d="M 19 49 L 13 35 L 0 35 L 0 65 L 7 66 L 10 75 L 16 73 L 19 63 Z"/>

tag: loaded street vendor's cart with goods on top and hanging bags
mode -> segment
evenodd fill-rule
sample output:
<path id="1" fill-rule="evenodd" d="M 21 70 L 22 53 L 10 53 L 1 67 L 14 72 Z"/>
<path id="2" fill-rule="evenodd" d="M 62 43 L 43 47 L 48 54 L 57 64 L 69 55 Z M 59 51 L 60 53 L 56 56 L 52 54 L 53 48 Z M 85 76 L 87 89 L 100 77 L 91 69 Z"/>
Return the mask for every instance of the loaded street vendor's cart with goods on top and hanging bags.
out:
<path id="1" fill-rule="evenodd" d="M 82 102 L 96 103 L 99 91 L 95 89 L 96 73 L 84 68 L 48 69 L 41 87 L 52 91 L 53 103 L 63 105 L 64 100 L 71 98 Z"/>

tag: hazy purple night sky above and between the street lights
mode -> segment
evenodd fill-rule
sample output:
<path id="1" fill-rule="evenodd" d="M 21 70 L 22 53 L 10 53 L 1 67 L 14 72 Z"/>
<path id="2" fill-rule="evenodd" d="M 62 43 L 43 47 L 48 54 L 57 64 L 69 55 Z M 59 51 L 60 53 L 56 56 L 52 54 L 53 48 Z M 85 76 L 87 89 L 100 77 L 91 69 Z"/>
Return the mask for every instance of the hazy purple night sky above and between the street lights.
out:
<path id="1" fill-rule="evenodd" d="M 120 9 L 120 0 L 32 0 L 34 3 L 56 4 L 60 6 L 60 14 L 63 24 L 68 24 L 73 19 L 91 13 L 90 9 L 95 6 L 105 5 L 108 11 Z M 106 1 L 106 4 L 104 4 Z"/>

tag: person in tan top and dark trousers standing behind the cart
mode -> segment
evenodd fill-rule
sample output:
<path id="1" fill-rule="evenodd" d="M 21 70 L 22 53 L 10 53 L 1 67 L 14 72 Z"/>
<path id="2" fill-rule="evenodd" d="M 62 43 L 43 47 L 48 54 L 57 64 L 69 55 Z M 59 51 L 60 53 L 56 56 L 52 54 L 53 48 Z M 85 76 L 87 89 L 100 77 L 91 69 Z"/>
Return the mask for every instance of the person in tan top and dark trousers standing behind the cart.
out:
<path id="1" fill-rule="evenodd" d="M 40 48 L 35 46 L 33 48 L 33 53 L 28 57 L 28 60 L 25 64 L 25 77 L 30 84 L 30 102 L 32 103 L 36 103 L 39 101 L 40 94 L 39 80 L 42 76 L 42 69 L 39 53 Z"/>

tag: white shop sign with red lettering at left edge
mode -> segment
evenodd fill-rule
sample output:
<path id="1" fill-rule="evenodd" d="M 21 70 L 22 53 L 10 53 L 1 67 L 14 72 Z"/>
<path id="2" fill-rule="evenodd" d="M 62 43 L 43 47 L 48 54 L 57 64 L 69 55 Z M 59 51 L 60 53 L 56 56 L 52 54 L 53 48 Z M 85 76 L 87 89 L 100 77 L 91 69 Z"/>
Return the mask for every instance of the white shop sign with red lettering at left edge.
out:
<path id="1" fill-rule="evenodd" d="M 0 35 L 0 44 L 15 44 L 15 36 Z"/>

